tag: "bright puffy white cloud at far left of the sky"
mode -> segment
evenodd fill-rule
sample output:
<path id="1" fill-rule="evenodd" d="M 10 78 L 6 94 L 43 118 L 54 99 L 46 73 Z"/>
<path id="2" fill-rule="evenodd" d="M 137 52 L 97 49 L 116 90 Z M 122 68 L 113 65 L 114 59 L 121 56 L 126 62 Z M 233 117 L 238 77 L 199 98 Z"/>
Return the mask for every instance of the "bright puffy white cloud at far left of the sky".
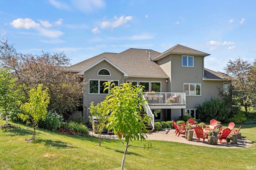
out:
<path id="1" fill-rule="evenodd" d="M 30 29 L 34 27 L 39 27 L 40 24 L 36 23 L 35 21 L 29 19 L 29 18 L 18 18 L 17 20 L 13 20 L 12 23 L 10 23 L 14 28 L 25 28 Z"/>

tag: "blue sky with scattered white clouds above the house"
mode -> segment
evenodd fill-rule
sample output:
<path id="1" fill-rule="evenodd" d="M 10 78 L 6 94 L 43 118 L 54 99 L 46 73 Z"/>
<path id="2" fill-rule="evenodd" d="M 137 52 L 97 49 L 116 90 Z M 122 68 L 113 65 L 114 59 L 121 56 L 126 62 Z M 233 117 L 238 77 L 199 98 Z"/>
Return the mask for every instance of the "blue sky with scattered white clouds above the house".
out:
<path id="1" fill-rule="evenodd" d="M 228 59 L 256 58 L 256 0 L 1 0 L 0 38 L 24 54 L 64 51 L 71 64 L 180 44 L 223 72 Z"/>

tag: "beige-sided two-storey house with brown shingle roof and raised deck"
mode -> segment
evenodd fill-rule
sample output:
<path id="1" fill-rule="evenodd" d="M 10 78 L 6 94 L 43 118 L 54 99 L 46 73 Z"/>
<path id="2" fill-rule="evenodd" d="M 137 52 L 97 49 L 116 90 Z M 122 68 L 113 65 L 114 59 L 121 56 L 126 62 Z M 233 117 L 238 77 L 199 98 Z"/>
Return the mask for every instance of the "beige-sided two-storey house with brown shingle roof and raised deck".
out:
<path id="1" fill-rule="evenodd" d="M 104 100 L 106 81 L 145 86 L 146 112 L 154 121 L 177 120 L 185 114 L 198 119 L 196 104 L 220 98 L 219 89 L 229 88 L 225 74 L 204 68 L 204 57 L 208 55 L 182 45 L 163 53 L 131 48 L 121 53 L 102 53 L 70 66 L 70 71 L 84 75 L 86 82 L 84 123 L 88 122 L 90 103 Z"/>

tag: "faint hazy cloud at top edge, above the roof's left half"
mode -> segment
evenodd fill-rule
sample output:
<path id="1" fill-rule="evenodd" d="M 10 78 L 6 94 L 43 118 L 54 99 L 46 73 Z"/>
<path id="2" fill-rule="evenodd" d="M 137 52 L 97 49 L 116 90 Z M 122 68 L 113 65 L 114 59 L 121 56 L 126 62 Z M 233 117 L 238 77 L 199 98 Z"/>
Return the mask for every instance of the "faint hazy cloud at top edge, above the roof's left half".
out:
<path id="1" fill-rule="evenodd" d="M 105 7 L 104 0 L 72 0 L 73 5 L 81 12 L 93 12 Z"/>

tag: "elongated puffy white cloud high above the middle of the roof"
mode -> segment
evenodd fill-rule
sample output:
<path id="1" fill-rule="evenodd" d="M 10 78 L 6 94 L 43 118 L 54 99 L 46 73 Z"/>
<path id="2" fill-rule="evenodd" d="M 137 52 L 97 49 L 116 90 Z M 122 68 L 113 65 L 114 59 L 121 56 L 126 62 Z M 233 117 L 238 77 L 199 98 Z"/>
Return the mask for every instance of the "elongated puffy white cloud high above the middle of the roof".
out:
<path id="1" fill-rule="evenodd" d="M 117 18 L 116 16 L 113 18 L 113 22 L 108 22 L 108 21 L 104 21 L 101 23 L 100 27 L 101 28 L 116 28 L 119 27 L 121 25 L 124 25 L 125 23 L 127 23 L 128 21 L 132 20 L 132 16 L 120 16 L 119 18 Z"/>

